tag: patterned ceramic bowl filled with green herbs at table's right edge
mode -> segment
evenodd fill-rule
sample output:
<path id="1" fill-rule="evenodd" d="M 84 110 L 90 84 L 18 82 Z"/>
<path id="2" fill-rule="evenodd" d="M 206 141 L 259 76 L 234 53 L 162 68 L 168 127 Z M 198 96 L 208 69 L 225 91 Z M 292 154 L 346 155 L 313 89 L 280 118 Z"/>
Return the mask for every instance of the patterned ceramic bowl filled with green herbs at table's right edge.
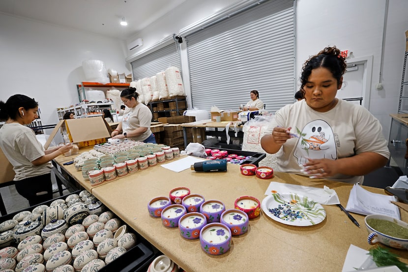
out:
<path id="1" fill-rule="evenodd" d="M 390 247 L 408 249 L 408 224 L 391 216 L 370 214 L 364 219 L 369 244 L 382 243 Z"/>

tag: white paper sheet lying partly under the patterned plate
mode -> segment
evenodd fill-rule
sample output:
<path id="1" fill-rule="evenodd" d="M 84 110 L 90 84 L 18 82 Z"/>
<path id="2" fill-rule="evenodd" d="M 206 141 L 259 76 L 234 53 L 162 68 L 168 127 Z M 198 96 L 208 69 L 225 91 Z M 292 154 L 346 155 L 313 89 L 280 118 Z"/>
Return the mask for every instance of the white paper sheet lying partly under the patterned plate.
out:
<path id="1" fill-rule="evenodd" d="M 271 195 L 272 191 L 277 193 L 296 193 L 298 195 L 307 196 L 322 205 L 340 204 L 336 191 L 326 185 L 324 185 L 323 188 L 314 188 L 272 181 L 269 183 L 265 195 Z"/>

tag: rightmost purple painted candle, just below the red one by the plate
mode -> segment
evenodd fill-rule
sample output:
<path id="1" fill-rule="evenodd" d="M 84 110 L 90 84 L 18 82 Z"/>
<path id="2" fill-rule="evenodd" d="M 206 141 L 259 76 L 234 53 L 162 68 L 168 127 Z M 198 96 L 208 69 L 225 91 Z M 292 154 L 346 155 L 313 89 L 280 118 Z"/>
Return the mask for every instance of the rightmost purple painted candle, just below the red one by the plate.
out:
<path id="1" fill-rule="evenodd" d="M 220 222 L 230 228 L 233 236 L 237 236 L 248 231 L 249 217 L 241 210 L 227 210 L 221 214 Z"/>

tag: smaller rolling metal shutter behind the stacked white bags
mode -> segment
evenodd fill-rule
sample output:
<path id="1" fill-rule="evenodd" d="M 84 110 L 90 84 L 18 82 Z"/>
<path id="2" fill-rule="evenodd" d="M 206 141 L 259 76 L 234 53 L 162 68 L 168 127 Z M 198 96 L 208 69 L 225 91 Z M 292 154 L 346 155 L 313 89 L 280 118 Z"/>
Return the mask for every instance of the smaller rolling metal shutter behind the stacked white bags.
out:
<path id="1" fill-rule="evenodd" d="M 175 66 L 181 72 L 180 52 L 178 44 L 171 44 L 158 49 L 138 60 L 131 62 L 134 80 L 155 76 L 170 66 Z"/>

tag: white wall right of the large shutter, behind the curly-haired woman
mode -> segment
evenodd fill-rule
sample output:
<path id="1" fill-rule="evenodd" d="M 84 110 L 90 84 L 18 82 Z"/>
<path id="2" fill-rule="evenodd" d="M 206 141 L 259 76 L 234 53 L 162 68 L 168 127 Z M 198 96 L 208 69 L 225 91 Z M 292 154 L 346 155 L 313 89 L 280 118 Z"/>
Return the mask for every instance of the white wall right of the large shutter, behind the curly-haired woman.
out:
<path id="1" fill-rule="evenodd" d="M 405 31 L 408 30 L 408 1 L 390 0 L 381 82 L 379 83 L 385 0 L 298 0 L 296 75 L 309 56 L 328 45 L 352 51 L 348 61 L 373 56 L 373 72 L 368 109 L 382 124 L 389 136 L 390 114 L 398 111 L 402 67 L 405 52 Z"/>

